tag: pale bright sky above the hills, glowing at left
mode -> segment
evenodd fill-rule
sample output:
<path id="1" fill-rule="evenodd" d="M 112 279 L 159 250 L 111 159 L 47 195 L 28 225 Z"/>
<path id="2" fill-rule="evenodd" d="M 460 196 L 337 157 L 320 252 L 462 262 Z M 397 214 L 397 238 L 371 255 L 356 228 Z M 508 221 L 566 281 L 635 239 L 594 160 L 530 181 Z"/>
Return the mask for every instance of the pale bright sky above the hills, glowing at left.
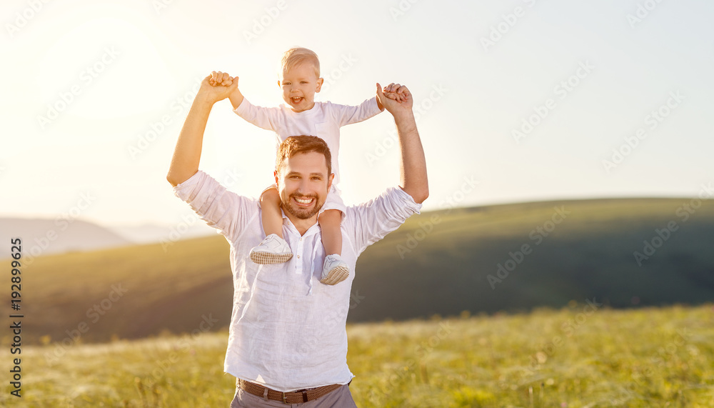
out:
<path id="1" fill-rule="evenodd" d="M 0 6 L 0 217 L 176 226 L 166 181 L 198 82 L 239 77 L 283 103 L 281 54 L 316 51 L 317 101 L 376 83 L 414 96 L 424 210 L 519 201 L 707 196 L 714 185 L 714 3 L 654 1 L 41 1 Z M 341 131 L 343 199 L 398 184 L 388 113 Z M 213 107 L 200 168 L 246 196 L 275 136 Z"/>

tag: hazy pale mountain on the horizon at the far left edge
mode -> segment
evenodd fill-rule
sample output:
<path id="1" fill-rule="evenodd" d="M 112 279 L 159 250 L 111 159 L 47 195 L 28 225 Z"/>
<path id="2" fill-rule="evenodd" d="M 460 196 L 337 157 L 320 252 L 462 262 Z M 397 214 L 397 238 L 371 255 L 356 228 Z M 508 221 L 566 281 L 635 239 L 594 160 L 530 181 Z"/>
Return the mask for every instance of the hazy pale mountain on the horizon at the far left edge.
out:
<path id="1" fill-rule="evenodd" d="M 10 239 L 19 237 L 25 257 L 64 252 L 86 252 L 121 247 L 131 242 L 99 225 L 81 219 L 0 218 L 0 259 L 10 257 Z"/>

